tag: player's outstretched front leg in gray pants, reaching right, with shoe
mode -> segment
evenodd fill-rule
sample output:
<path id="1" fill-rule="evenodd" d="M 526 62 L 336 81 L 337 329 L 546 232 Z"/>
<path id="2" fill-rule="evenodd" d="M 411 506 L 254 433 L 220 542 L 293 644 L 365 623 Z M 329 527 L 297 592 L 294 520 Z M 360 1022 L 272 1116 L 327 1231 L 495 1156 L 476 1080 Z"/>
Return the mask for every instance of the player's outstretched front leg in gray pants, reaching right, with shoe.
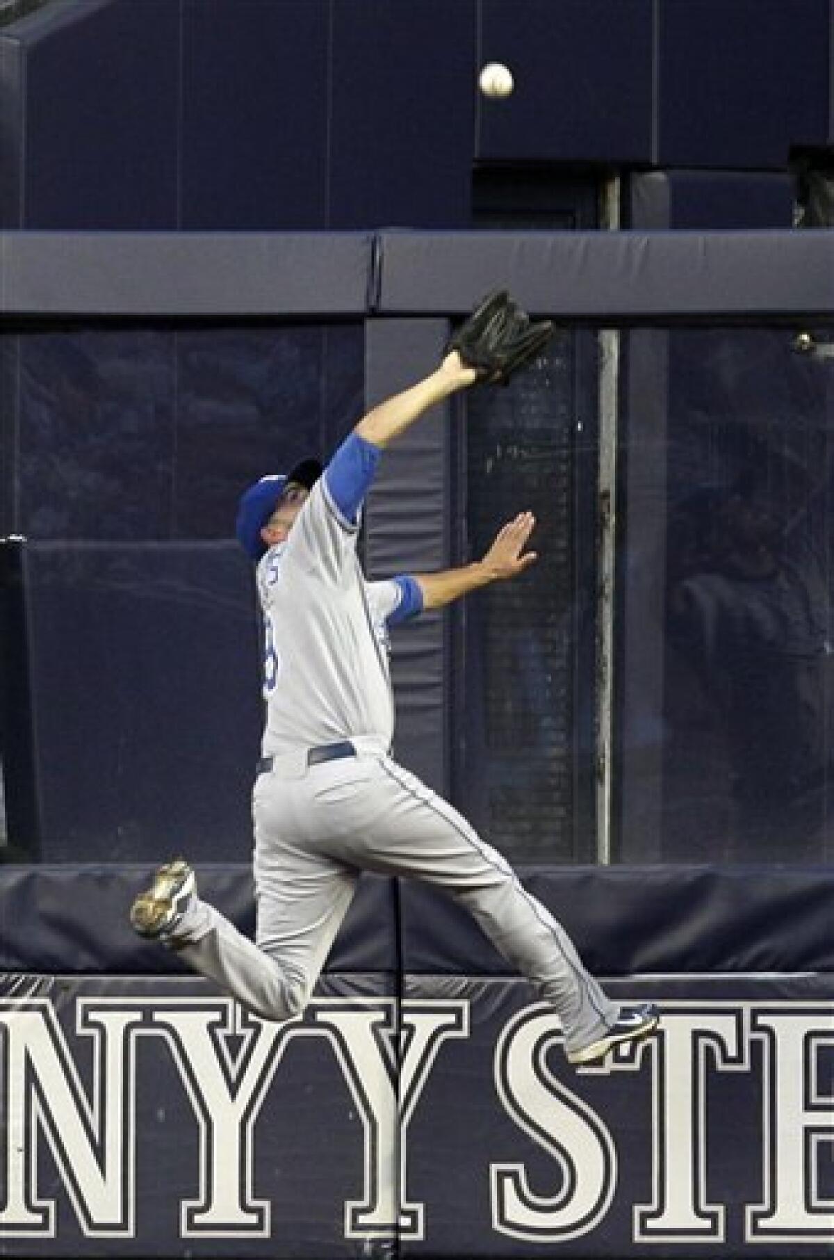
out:
<path id="1" fill-rule="evenodd" d="M 442 888 L 496 949 L 553 1003 L 572 1062 L 645 1036 L 654 1008 L 624 1008 L 602 992 L 564 929 L 522 886 L 505 858 L 447 801 L 391 759 L 372 764 L 367 790 L 344 806 L 344 853 L 357 864 Z M 349 830 L 348 830 L 349 828 Z"/>

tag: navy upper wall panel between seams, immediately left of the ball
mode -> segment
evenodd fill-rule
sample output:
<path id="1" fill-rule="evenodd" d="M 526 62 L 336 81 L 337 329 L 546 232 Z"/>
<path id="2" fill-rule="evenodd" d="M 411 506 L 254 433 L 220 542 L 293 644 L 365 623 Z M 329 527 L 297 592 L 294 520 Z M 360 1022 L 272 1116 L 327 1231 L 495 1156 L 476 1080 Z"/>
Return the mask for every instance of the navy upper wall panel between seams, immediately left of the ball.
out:
<path id="1" fill-rule="evenodd" d="M 330 228 L 467 226 L 475 10 L 331 5 Z"/>

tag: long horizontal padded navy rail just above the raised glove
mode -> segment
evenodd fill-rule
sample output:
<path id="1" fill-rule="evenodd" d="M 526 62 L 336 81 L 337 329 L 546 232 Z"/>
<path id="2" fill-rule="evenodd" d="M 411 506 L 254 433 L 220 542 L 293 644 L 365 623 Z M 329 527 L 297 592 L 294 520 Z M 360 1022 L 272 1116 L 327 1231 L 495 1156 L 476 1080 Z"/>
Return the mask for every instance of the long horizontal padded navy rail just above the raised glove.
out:
<path id="1" fill-rule="evenodd" d="M 603 320 L 834 309 L 834 231 L 0 233 L 0 315 L 460 315 L 508 286 Z"/>

